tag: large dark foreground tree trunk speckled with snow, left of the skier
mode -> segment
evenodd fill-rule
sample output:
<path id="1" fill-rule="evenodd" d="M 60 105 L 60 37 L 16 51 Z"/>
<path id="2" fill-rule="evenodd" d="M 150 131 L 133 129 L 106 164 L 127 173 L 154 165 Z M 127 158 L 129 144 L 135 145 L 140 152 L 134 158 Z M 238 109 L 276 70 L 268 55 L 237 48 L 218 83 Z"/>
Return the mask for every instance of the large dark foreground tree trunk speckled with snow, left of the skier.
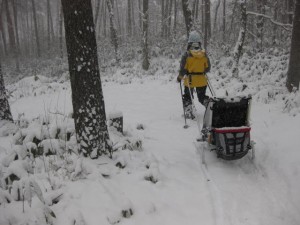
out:
<path id="1" fill-rule="evenodd" d="M 84 156 L 111 153 L 90 0 L 62 0 L 75 129 Z"/>

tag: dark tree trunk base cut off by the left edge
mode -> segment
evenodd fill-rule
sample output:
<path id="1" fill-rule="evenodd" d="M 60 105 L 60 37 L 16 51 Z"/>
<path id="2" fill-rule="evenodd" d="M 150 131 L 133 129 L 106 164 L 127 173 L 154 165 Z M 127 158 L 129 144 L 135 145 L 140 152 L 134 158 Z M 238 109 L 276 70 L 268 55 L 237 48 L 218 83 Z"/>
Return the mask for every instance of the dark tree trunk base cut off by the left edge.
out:
<path id="1" fill-rule="evenodd" d="M 7 94 L 6 94 L 6 89 L 5 89 L 4 79 L 2 74 L 2 68 L 1 68 L 1 62 L 0 62 L 0 121 L 1 120 L 13 121 L 8 99 L 7 99 Z"/>

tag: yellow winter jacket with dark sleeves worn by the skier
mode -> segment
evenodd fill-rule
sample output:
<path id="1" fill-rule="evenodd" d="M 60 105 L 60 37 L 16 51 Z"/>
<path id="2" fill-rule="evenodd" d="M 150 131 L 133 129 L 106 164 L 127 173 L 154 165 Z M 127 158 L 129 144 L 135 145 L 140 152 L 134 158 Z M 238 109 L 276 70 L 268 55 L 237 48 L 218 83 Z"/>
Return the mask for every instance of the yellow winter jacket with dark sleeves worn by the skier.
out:
<path id="1" fill-rule="evenodd" d="M 204 50 L 190 50 L 183 55 L 180 63 L 180 76 L 185 76 L 184 85 L 194 87 L 207 86 L 205 73 L 210 70 L 209 58 Z"/>

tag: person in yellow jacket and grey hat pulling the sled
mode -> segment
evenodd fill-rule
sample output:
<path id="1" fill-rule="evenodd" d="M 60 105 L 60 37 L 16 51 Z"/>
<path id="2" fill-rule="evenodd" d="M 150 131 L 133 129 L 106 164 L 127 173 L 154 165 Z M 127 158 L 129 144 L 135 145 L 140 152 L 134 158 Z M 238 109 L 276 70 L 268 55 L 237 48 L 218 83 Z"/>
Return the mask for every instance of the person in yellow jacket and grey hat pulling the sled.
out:
<path id="1" fill-rule="evenodd" d="M 193 119 L 192 97 L 194 97 L 194 89 L 196 89 L 199 102 L 205 107 L 208 104 L 209 97 L 206 95 L 207 78 L 206 73 L 210 71 L 210 61 L 201 48 L 200 35 L 196 31 L 192 31 L 189 35 L 187 51 L 181 58 L 179 75 L 177 81 L 183 80 L 184 94 L 183 105 L 185 114 L 188 118 Z"/>

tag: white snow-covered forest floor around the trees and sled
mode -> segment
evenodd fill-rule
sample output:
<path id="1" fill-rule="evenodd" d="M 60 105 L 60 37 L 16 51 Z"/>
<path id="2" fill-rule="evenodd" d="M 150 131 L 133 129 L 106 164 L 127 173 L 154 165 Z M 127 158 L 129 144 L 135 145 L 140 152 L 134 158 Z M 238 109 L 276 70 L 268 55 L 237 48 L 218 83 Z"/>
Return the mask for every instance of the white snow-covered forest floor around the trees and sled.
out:
<path id="1" fill-rule="evenodd" d="M 211 83 L 217 95 L 224 95 L 225 89 L 233 95 L 245 89 L 244 94 L 254 96 L 251 139 L 256 142 L 256 158 L 251 161 L 247 155 L 224 161 L 207 151 L 203 165 L 194 144 L 199 136 L 196 121 L 188 120 L 189 128 L 183 129 L 179 84 L 171 73 L 177 61 L 170 65 L 171 71 L 155 76 L 130 79 L 131 75 L 117 71 L 120 78 L 104 78 L 106 111 L 121 111 L 124 119 L 125 135 L 118 137 L 111 130 L 113 142 L 141 141 L 142 147 L 119 149 L 112 159 L 90 160 L 75 154 L 36 159 L 32 163 L 35 172 L 28 177 L 42 193 L 34 188 L 32 203 L 0 199 L 0 224 L 300 224 L 300 114 L 283 112 L 282 79 L 278 79 L 281 85 L 269 86 L 276 83 L 279 72 L 269 79 L 268 75 L 263 79 L 249 75 L 245 88 L 214 70 Z M 51 118 L 54 126 L 50 123 L 49 137 L 55 136 L 55 127 L 63 127 L 60 123 L 69 121 L 68 82 L 29 77 L 10 89 L 14 118 L 25 118 L 25 122 Z M 270 96 L 274 89 L 278 91 Z M 197 103 L 197 109 L 202 118 L 204 108 Z M 72 129 L 70 124 L 66 127 Z M 0 137 L 2 178 L 12 143 L 12 136 Z"/>

